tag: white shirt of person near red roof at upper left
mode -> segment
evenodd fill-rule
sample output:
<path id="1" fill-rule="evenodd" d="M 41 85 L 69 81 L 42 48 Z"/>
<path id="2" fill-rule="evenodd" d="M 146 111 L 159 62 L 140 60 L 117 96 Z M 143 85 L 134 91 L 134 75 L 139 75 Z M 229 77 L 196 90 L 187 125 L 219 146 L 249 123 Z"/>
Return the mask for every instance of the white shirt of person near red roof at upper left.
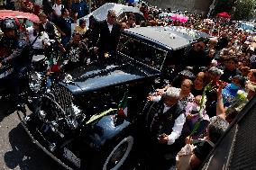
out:
<path id="1" fill-rule="evenodd" d="M 33 28 L 27 28 L 28 34 L 29 34 L 29 40 L 32 43 L 35 38 L 37 37 L 33 35 Z M 35 42 L 32 44 L 32 49 L 43 49 L 43 44 L 50 45 L 50 39 L 48 34 L 45 31 L 41 32 L 41 35 L 35 40 Z"/>

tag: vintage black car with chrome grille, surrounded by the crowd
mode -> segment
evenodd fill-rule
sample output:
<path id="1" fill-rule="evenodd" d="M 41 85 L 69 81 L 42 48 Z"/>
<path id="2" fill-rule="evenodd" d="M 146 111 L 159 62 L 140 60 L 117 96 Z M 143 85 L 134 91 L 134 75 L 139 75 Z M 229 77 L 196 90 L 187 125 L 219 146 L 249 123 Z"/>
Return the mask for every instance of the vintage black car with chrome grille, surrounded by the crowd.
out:
<path id="1" fill-rule="evenodd" d="M 207 35 L 183 27 L 122 32 L 118 55 L 54 78 L 40 88 L 23 127 L 50 157 L 68 169 L 120 169 L 144 133 L 147 95 L 171 76 L 184 50 Z"/>

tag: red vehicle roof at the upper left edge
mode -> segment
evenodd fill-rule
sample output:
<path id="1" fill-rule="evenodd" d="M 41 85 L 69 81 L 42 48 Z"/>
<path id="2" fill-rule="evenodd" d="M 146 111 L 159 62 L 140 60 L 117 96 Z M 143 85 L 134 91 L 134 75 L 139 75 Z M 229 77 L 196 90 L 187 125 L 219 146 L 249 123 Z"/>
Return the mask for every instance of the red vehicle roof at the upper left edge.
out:
<path id="1" fill-rule="evenodd" d="M 38 22 L 39 18 L 37 15 L 33 13 L 23 13 L 20 11 L 12 11 L 12 10 L 0 10 L 0 20 L 4 20 L 6 18 L 27 18 L 32 22 Z"/>

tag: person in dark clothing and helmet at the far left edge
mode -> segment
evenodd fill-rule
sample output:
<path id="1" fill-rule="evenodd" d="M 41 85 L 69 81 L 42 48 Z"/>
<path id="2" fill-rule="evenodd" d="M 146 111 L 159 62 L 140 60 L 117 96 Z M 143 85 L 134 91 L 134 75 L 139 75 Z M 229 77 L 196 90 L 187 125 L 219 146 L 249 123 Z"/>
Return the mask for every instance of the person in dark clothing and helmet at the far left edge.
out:
<path id="1" fill-rule="evenodd" d="M 17 25 L 13 19 L 6 19 L 1 22 L 1 29 L 4 31 L 4 37 L 0 41 L 0 49 L 6 49 L 5 56 L 1 58 L 0 67 L 3 65 L 11 65 L 14 69 L 9 77 L 11 90 L 11 98 L 18 109 L 24 111 L 23 98 L 20 96 L 21 83 L 26 75 L 27 67 L 30 64 L 30 58 L 27 56 L 26 47 L 29 46 L 28 41 L 20 38 Z M 3 54 L 1 54 L 3 55 Z"/>

